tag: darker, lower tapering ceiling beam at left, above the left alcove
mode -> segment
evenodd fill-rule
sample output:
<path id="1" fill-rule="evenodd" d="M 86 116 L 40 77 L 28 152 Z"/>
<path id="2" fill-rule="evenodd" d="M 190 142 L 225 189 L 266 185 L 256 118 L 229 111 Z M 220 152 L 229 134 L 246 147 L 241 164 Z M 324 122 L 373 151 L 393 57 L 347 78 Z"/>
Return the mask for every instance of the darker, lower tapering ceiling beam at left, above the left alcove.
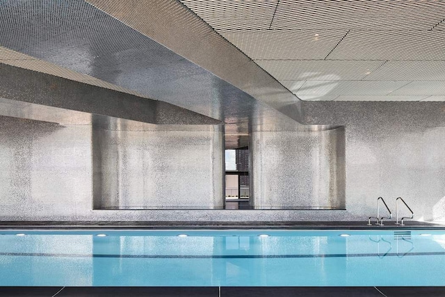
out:
<path id="1" fill-rule="evenodd" d="M 90 86 L 4 63 L 0 63 L 0 73 L 0 115 L 30 120 L 42 120 L 43 116 L 44 121 L 58 122 L 49 119 L 59 118 L 55 117 L 56 113 L 63 115 L 65 111 L 78 111 L 70 114 L 80 120 L 80 125 L 85 125 L 86 118 L 88 120 L 92 115 L 154 125 L 220 124 L 218 120 L 167 102 Z M 85 114 L 78 117 L 79 112 Z M 65 117 L 61 118 L 65 122 Z"/>

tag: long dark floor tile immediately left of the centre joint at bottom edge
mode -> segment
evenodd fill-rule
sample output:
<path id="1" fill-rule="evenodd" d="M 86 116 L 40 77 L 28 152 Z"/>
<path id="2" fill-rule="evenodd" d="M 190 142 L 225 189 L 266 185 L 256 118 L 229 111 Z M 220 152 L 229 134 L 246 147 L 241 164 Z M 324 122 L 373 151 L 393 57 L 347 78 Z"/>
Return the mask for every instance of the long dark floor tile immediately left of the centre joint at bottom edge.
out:
<path id="1" fill-rule="evenodd" d="M 218 287 L 67 287 L 57 297 L 218 297 Z"/>

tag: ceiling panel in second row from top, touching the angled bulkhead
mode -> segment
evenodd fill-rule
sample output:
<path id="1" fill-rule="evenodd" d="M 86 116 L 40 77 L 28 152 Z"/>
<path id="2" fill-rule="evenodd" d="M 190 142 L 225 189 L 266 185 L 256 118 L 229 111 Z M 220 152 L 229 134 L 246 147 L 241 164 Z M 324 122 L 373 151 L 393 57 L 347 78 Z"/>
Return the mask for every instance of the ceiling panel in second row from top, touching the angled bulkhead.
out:
<path id="1" fill-rule="evenodd" d="M 346 31 L 218 31 L 253 60 L 324 59 Z"/>

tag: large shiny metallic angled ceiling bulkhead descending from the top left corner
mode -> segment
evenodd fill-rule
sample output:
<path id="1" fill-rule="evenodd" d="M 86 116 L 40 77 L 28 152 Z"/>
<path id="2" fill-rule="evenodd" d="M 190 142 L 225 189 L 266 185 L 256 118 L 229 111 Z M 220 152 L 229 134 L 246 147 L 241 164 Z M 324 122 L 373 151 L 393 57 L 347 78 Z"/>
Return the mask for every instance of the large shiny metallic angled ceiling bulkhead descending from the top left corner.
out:
<path id="1" fill-rule="evenodd" d="M 222 120 L 229 134 L 314 129 L 298 124 L 298 97 L 178 1 L 6 0 L 0 19 L 1 63 L 56 65 Z"/>

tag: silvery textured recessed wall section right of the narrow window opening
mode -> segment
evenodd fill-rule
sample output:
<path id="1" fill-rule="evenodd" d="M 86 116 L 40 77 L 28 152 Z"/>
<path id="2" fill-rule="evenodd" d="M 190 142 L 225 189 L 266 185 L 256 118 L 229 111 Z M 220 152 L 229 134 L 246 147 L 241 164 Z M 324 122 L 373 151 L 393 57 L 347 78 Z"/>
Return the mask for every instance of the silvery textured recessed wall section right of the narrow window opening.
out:
<path id="1" fill-rule="evenodd" d="M 255 209 L 344 209 L 344 129 L 252 133 Z"/>

